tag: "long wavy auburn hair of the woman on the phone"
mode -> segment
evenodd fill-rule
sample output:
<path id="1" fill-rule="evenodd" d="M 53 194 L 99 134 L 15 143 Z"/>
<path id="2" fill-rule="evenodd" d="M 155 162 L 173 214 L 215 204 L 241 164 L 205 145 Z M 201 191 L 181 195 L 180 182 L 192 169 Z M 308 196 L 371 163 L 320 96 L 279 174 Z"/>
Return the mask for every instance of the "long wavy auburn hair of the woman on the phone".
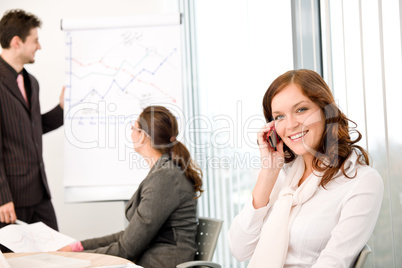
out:
<path id="1" fill-rule="evenodd" d="M 345 173 L 345 160 L 356 151 L 359 154 L 358 162 L 360 164 L 370 164 L 369 156 L 366 150 L 356 145 L 361 140 L 362 135 L 356 129 L 357 124 L 348 119 L 344 113 L 335 104 L 334 97 L 322 77 L 311 70 L 300 69 L 288 71 L 276 78 L 265 92 L 262 105 L 264 116 L 267 122 L 273 120 L 272 99 L 282 89 L 289 84 L 297 85 L 311 101 L 317 104 L 325 114 L 325 130 L 321 141 L 315 150 L 313 158 L 313 168 L 317 171 L 324 171 L 320 185 L 325 185 L 336 175 L 339 169 L 347 178 Z M 354 124 L 349 127 L 348 122 Z M 351 133 L 356 133 L 356 139 L 350 137 Z M 285 152 L 285 162 L 289 163 L 296 158 L 286 144 L 283 146 Z"/>

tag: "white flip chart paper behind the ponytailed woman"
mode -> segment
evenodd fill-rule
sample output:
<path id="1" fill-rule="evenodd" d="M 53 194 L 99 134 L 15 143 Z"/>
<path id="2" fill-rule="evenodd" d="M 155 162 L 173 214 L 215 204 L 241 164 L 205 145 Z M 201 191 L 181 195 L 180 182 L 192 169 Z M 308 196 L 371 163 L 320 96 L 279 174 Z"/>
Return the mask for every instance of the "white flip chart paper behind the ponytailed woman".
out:
<path id="1" fill-rule="evenodd" d="M 149 169 L 130 122 L 151 104 L 181 113 L 180 24 L 83 27 L 65 40 L 65 186 L 138 185 Z"/>

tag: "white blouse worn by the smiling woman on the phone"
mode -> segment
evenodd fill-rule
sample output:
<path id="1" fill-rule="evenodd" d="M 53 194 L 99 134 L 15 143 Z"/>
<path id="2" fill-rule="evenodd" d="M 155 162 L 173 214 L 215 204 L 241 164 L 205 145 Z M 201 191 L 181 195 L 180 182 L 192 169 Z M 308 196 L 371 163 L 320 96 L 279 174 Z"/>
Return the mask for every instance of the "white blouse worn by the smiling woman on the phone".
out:
<path id="1" fill-rule="evenodd" d="M 281 170 L 275 187 L 281 187 L 291 165 Z M 320 186 L 302 205 L 290 227 L 284 267 L 350 267 L 369 240 L 380 212 L 383 181 L 375 169 L 358 164 L 355 153 L 346 160 L 345 172 L 357 175 L 348 179 L 338 172 L 326 189 Z M 228 238 L 237 260 L 253 255 L 271 207 L 268 203 L 254 209 L 250 200 L 233 220 Z"/>

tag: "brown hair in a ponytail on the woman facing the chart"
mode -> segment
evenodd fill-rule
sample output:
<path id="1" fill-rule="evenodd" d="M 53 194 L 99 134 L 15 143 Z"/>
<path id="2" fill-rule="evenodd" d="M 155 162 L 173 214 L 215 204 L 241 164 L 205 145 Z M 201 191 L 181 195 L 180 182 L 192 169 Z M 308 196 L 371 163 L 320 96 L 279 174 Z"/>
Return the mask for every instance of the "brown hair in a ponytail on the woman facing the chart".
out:
<path id="1" fill-rule="evenodd" d="M 140 114 L 138 124 L 151 137 L 154 149 L 170 154 L 172 161 L 193 183 L 194 191 L 199 192 L 200 197 L 204 191 L 201 189 L 202 171 L 186 146 L 176 140 L 179 128 L 174 115 L 163 106 L 148 106 Z"/>

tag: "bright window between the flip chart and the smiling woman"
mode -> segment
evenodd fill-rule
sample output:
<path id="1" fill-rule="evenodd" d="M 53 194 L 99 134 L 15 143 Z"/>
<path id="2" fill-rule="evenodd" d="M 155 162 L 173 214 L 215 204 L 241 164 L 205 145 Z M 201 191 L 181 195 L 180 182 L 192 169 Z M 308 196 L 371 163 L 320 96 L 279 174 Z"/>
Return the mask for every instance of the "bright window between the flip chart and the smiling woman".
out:
<path id="1" fill-rule="evenodd" d="M 227 230 L 258 176 L 262 98 L 278 75 L 293 69 L 290 1 L 185 2 L 192 14 L 184 16 L 194 18 L 192 86 L 198 105 L 197 120 L 188 126 L 198 129 L 197 142 L 187 144 L 195 148 L 207 189 L 199 214 L 224 220 L 214 259 L 222 267 L 245 267 L 229 252 Z"/>

